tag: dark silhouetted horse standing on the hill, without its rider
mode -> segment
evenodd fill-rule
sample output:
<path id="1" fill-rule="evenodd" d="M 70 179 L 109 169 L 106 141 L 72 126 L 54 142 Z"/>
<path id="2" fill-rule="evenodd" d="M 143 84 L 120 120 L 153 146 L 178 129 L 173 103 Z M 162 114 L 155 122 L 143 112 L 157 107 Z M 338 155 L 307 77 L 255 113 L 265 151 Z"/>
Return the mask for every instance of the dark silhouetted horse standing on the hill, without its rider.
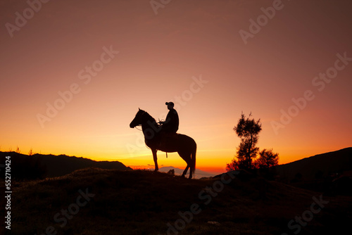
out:
<path id="1" fill-rule="evenodd" d="M 136 117 L 130 123 L 130 127 L 134 128 L 138 125 L 142 125 L 144 141 L 146 142 L 146 146 L 151 148 L 151 152 L 153 153 L 155 171 L 159 170 L 158 157 L 156 155 L 158 150 L 166 153 L 177 152 L 187 163 L 187 167 L 184 169 L 182 177 L 184 177 L 187 170 L 190 168 L 189 179 L 191 179 L 192 174 L 194 174 L 194 171 L 196 170 L 196 141 L 184 134 L 175 134 L 175 137 L 166 137 L 161 134 L 161 126 L 158 125 L 156 120 L 151 117 L 149 113 L 146 113 L 146 111 L 141 110 L 140 108 Z M 163 144 L 161 144 L 161 141 L 163 141 Z"/>

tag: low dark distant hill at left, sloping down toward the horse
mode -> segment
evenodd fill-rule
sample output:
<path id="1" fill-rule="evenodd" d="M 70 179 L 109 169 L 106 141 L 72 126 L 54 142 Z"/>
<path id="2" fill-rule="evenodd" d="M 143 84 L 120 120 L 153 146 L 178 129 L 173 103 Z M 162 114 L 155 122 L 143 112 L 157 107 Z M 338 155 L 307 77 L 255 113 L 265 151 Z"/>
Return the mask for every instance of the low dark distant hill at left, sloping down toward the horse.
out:
<path id="1" fill-rule="evenodd" d="M 0 152 L 0 162 L 5 163 L 5 158 L 8 155 L 11 156 L 11 176 L 17 179 L 59 177 L 88 167 L 132 170 L 118 161 L 95 161 L 68 155 L 25 155 L 15 152 Z M 2 174 L 1 177 L 3 177 Z"/>

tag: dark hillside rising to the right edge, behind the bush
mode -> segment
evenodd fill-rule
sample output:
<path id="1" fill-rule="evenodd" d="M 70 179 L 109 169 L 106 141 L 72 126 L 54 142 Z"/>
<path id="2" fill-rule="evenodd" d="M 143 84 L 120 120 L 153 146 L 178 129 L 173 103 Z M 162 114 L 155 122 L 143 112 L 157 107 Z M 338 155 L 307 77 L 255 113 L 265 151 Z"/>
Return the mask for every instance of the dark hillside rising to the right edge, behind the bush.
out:
<path id="1" fill-rule="evenodd" d="M 275 167 L 277 180 L 329 195 L 352 196 L 352 148 Z"/>

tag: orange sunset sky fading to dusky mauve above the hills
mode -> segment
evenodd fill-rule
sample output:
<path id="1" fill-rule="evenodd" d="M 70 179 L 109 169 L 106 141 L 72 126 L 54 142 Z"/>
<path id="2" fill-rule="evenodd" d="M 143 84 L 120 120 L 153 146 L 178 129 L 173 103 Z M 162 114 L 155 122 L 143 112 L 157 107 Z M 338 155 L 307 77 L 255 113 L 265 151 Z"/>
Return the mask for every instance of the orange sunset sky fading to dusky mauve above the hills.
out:
<path id="1" fill-rule="evenodd" d="M 352 3 L 313 0 L 0 1 L 0 150 L 153 167 L 138 108 L 222 172 L 241 113 L 279 163 L 351 147 Z M 159 166 L 185 167 L 158 152 Z"/>

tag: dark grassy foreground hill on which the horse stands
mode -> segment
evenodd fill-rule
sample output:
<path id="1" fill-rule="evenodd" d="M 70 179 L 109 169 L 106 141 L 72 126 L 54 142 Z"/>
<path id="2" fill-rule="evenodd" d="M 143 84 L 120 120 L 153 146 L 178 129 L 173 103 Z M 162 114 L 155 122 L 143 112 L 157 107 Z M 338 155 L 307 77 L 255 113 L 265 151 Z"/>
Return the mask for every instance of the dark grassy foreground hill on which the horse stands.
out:
<path id="1" fill-rule="evenodd" d="M 292 234 L 296 229 L 288 223 L 317 198 L 324 208 L 306 226 L 294 222 L 300 234 L 348 229 L 351 197 L 323 196 L 260 177 L 184 179 L 89 168 L 15 184 L 11 234 L 44 234 L 48 227 L 68 235 Z"/>

